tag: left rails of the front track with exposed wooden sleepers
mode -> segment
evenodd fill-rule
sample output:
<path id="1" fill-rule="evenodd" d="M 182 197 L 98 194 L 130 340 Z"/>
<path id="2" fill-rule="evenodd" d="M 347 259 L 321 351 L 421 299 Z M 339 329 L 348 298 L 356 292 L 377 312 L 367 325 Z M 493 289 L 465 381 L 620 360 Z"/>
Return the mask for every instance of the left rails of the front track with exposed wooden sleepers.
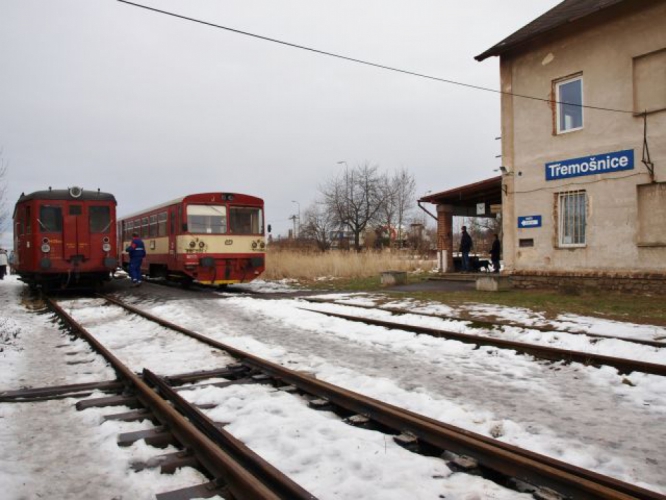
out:
<path id="1" fill-rule="evenodd" d="M 315 497 L 294 483 L 272 465 L 252 452 L 242 442 L 211 422 L 195 406 L 187 403 L 172 390 L 163 377 L 150 371 L 144 371 L 139 377 L 116 356 L 102 345 L 93 335 L 81 326 L 55 301 L 47 299 L 48 306 L 72 328 L 78 335 L 86 339 L 95 351 L 101 354 L 118 374 L 118 382 L 124 387 L 124 394 L 102 398 L 101 400 L 81 401 L 79 409 L 91 406 L 140 405 L 144 410 L 137 414 L 125 413 L 112 416 L 112 419 L 131 420 L 150 418 L 159 422 L 160 427 L 147 432 L 119 437 L 120 443 L 128 443 L 136 439 L 147 439 L 147 442 L 170 442 L 175 440 L 184 454 L 164 457 L 158 462 L 164 467 L 165 462 L 175 467 L 180 463 L 196 463 L 211 477 L 207 484 L 198 485 L 187 490 L 177 490 L 158 495 L 158 500 L 178 500 L 185 498 L 209 497 L 215 494 L 224 498 L 234 499 L 314 499 Z M 195 380 L 204 378 L 202 374 L 185 375 L 181 378 Z M 215 373 L 203 374 L 205 378 L 223 376 L 236 378 L 233 371 L 224 369 Z M 108 382 L 103 383 L 103 385 Z M 89 384 L 88 384 L 89 385 Z M 94 387 L 96 388 L 96 387 Z M 108 388 L 108 387 L 107 387 Z M 53 388 L 51 393 L 58 396 L 67 391 L 86 390 L 91 387 Z M 48 396 L 48 389 L 37 390 L 37 397 Z M 130 395 L 127 395 L 129 393 Z M 0 394 L 0 400 L 8 397 L 14 399 L 30 398 L 31 394 Z M 150 413 L 148 417 L 147 413 Z M 175 465 L 174 465 L 175 464 Z"/>

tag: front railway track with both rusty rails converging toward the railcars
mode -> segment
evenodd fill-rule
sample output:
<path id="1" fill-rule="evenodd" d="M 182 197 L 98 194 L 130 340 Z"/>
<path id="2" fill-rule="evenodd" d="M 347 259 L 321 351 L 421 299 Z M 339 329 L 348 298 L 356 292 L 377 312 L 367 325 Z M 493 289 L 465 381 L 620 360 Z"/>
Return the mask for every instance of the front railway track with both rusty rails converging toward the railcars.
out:
<path id="1" fill-rule="evenodd" d="M 223 384 L 270 382 L 277 387 L 287 388 L 290 392 L 297 392 L 307 398 L 311 407 L 332 409 L 344 416 L 352 425 L 377 428 L 393 434 L 396 442 L 408 449 L 428 455 L 446 456 L 450 467 L 455 470 L 471 470 L 520 491 L 532 492 L 535 498 L 666 500 L 666 496 L 659 493 L 523 450 L 289 370 L 157 318 L 112 297 L 104 298 L 129 312 L 221 349 L 236 358 L 239 365 L 225 367 L 215 373 L 215 376 L 228 379 L 228 382 Z M 82 327 L 62 308 L 53 301 L 50 302 L 51 307 L 72 328 L 79 330 L 86 338 L 90 336 L 86 335 Z M 92 336 L 89 342 L 114 367 L 118 366 L 116 371 L 119 373 L 121 383 L 136 394 L 141 406 L 154 414 L 161 425 L 168 428 L 182 446 L 194 452 L 195 460 L 203 465 L 211 478 L 214 478 L 205 486 L 206 488 L 221 487 L 225 491 L 231 491 L 234 498 L 312 498 L 307 496 L 307 492 L 299 489 L 298 485 L 291 487 L 304 496 L 293 496 L 292 493 L 280 496 L 280 491 L 284 491 L 281 488 L 285 486 L 278 487 L 276 492 L 271 489 L 270 480 L 257 478 L 260 474 L 255 475 L 252 467 L 250 471 L 243 468 L 248 461 L 252 463 L 252 459 L 236 458 L 238 450 L 243 449 L 242 443 L 236 442 L 231 450 L 221 451 L 219 444 L 210 438 L 220 430 L 218 426 L 211 422 L 203 427 L 198 426 L 197 422 L 205 420 L 205 416 L 191 405 L 188 408 L 186 401 L 180 401 L 175 397 L 177 389 L 172 389 L 171 386 L 178 381 L 178 377 L 158 377 L 148 371 L 144 372 L 143 377 L 139 377 L 126 367 L 123 368 L 113 354 Z M 192 374 L 181 378 L 191 381 L 196 377 L 196 374 Z M 90 388 L 81 387 L 76 390 L 85 393 Z M 45 394 L 33 396 L 45 397 Z M 7 395 L 0 394 L 0 398 L 2 397 Z M 117 418 L 136 418 L 136 415 Z M 160 430 L 155 433 L 160 434 Z M 172 498 L 181 497 L 164 496 L 160 500 Z"/>

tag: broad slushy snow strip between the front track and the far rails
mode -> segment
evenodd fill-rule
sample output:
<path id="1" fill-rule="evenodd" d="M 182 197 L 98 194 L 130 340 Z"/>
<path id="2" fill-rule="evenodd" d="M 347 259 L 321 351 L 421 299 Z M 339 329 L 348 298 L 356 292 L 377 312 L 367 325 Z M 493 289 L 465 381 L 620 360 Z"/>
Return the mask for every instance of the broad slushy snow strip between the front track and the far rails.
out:
<path id="1" fill-rule="evenodd" d="M 137 302 L 328 382 L 666 491 L 657 466 L 666 455 L 655 446 L 666 442 L 659 430 L 666 412 L 663 377 L 623 377 L 614 369 L 538 362 L 513 351 L 350 324 L 303 311 L 312 305 L 298 300 L 232 297 L 219 301 L 217 314 L 209 300 Z"/>

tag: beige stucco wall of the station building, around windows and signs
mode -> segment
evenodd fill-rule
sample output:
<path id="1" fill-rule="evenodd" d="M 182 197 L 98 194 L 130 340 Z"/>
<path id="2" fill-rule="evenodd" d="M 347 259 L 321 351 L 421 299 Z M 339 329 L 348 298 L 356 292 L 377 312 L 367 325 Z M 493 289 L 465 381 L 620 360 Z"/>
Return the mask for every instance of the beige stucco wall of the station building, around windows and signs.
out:
<path id="1" fill-rule="evenodd" d="M 633 60 L 666 48 L 666 3 L 654 2 L 598 25 L 574 24 L 567 31 L 522 53 L 503 55 L 502 90 L 549 99 L 554 80 L 582 73 L 585 105 L 633 110 Z M 666 93 L 666 81 L 643 84 L 660 86 Z M 553 127 L 549 103 L 503 96 L 503 164 L 511 172 L 504 178 L 505 269 L 666 274 L 666 246 L 638 241 L 637 186 L 652 181 L 641 163 L 643 118 L 585 109 L 582 130 L 555 135 Z M 648 137 L 655 180 L 666 182 L 666 110 L 648 115 Z M 633 170 L 545 180 L 548 162 L 626 149 L 634 150 Z M 576 189 L 588 195 L 587 244 L 558 248 L 556 193 Z M 541 215 L 542 227 L 518 229 L 517 218 L 529 215 Z M 661 227 L 653 229 L 666 233 L 666 217 L 660 220 Z M 521 238 L 534 239 L 534 247 L 519 248 Z"/>

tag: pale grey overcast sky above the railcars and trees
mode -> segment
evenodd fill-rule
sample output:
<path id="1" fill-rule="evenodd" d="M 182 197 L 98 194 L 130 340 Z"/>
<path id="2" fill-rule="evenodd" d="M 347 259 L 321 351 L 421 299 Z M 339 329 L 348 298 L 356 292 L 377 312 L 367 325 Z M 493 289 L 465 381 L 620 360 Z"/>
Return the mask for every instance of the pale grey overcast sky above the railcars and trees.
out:
<path id="1" fill-rule="evenodd" d="M 141 3 L 141 2 L 139 2 Z M 476 85 L 473 58 L 558 0 L 146 0 L 214 24 Z M 262 197 L 274 234 L 349 166 L 417 196 L 493 175 L 499 96 L 114 0 L 0 0 L 0 148 L 21 192 L 80 185 L 120 215 L 198 192 Z M 5 234 L 6 245 L 11 235 Z"/>

